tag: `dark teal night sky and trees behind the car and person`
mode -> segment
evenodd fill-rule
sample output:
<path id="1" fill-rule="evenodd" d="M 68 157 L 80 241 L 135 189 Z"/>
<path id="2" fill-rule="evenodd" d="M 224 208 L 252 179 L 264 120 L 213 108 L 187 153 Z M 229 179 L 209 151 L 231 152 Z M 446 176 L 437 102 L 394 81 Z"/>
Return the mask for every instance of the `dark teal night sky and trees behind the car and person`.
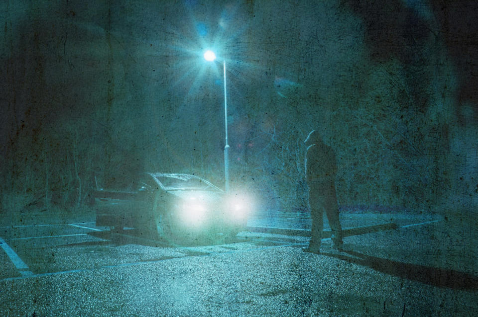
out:
<path id="1" fill-rule="evenodd" d="M 296 3 L 298 2 L 298 3 Z M 195 173 L 304 210 L 302 141 L 344 208 L 477 202 L 476 1 L 5 0 L 1 211 L 82 208 L 103 175 Z M 103 177 L 103 178 L 102 178 Z"/>

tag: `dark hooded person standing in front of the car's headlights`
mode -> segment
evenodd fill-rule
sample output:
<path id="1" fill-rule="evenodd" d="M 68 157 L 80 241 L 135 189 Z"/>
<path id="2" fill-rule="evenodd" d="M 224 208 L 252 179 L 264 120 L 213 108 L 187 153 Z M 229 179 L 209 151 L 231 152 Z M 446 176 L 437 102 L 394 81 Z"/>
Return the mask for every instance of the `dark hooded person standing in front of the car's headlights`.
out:
<path id="1" fill-rule="evenodd" d="M 312 219 L 311 238 L 305 252 L 319 253 L 324 227 L 324 211 L 332 229 L 334 248 L 342 250 L 342 227 L 339 220 L 339 206 L 335 190 L 337 160 L 334 149 L 327 146 L 321 135 L 312 130 L 304 141 L 307 146 L 305 155 L 305 175 L 309 186 L 309 208 Z"/>

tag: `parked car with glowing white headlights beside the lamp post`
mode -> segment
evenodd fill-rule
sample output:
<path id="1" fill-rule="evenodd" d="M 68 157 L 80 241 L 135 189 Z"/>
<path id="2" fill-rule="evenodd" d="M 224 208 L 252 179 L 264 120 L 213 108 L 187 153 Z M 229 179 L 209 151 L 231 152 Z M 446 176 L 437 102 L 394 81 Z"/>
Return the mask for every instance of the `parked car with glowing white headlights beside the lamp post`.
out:
<path id="1" fill-rule="evenodd" d="M 234 237 L 252 209 L 245 195 L 226 193 L 197 175 L 147 172 L 116 183 L 97 187 L 94 195 L 96 226 L 112 233 L 127 227 L 167 239 Z"/>

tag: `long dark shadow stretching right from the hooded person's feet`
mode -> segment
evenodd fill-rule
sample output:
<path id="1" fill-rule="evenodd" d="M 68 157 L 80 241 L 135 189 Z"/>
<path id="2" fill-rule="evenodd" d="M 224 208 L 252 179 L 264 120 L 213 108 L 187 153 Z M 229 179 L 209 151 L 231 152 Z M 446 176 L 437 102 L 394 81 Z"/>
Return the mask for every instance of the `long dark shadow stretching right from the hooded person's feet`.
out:
<path id="1" fill-rule="evenodd" d="M 365 255 L 356 251 L 344 252 L 350 254 L 351 256 L 322 252 L 321 254 L 345 260 L 349 263 L 368 266 L 382 273 L 395 275 L 400 278 L 405 278 L 428 285 L 457 290 L 478 290 L 478 277 L 468 273 L 418 264 L 397 262 Z"/>

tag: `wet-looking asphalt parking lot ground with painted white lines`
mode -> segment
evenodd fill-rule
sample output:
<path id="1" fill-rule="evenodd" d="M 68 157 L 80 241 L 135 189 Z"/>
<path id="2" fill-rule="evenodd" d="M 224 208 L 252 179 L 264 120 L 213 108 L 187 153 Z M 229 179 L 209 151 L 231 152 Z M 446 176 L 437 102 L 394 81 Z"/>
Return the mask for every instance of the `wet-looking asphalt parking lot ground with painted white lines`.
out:
<path id="1" fill-rule="evenodd" d="M 21 220 L 21 221 L 20 221 Z M 310 219 L 262 213 L 235 238 L 111 234 L 91 212 L 0 219 L 0 316 L 476 316 L 475 218 L 341 214 L 345 251 L 305 253 Z"/>

